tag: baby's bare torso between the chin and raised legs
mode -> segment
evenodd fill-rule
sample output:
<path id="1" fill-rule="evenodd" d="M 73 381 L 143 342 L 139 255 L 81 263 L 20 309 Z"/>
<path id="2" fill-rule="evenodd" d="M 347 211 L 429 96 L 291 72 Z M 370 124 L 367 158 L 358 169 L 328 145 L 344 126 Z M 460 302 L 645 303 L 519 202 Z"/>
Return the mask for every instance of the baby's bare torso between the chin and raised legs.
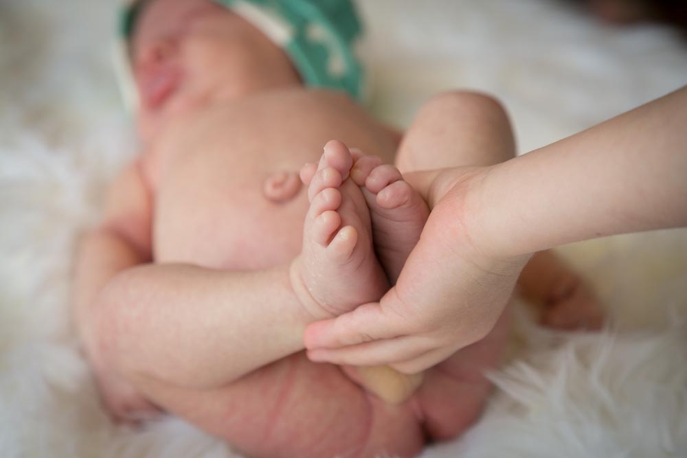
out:
<path id="1" fill-rule="evenodd" d="M 337 93 L 273 91 L 170 122 L 144 169 L 155 260 L 238 270 L 289 262 L 300 252 L 306 192 L 291 183 L 286 198 L 272 199 L 265 182 L 297 177 L 330 139 L 392 161 L 390 136 Z"/>

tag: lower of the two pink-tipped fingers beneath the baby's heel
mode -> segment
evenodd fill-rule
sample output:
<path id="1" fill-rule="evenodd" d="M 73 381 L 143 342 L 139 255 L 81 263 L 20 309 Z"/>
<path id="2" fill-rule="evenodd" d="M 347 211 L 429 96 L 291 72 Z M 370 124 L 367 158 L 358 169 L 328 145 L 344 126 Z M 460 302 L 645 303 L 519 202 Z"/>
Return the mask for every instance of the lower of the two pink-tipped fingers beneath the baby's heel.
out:
<path id="1" fill-rule="evenodd" d="M 433 348 L 433 342 L 425 336 L 399 336 L 349 347 L 308 350 L 308 358 L 316 363 L 388 365 L 417 358 Z"/>

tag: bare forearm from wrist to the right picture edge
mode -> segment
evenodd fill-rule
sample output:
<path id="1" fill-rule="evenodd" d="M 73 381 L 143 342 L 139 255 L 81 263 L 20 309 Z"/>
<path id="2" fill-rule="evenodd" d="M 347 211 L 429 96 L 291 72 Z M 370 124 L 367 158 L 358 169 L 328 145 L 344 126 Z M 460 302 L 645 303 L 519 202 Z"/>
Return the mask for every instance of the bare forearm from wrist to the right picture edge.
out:
<path id="1" fill-rule="evenodd" d="M 485 246 L 531 253 L 687 225 L 687 88 L 496 165 L 473 207 Z"/>

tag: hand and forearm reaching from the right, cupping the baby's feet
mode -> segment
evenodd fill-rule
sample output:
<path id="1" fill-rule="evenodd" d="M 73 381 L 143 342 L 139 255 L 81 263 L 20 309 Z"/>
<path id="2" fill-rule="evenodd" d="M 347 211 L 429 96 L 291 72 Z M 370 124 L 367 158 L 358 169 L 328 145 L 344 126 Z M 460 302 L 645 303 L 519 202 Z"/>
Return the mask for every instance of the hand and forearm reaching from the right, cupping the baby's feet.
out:
<path id="1" fill-rule="evenodd" d="M 686 106 L 683 87 L 488 168 L 406 176 L 431 214 L 396 286 L 308 326 L 308 356 L 420 371 L 491 330 L 531 253 L 687 226 Z"/>

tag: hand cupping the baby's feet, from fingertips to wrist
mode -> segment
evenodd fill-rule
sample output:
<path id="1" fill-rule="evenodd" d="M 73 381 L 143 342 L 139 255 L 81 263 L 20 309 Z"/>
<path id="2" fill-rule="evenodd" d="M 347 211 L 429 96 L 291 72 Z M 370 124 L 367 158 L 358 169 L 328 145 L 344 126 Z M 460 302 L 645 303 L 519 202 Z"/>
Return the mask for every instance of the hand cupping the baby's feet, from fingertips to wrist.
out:
<path id="1" fill-rule="evenodd" d="M 480 245 L 479 184 L 488 169 L 447 169 L 411 183 L 432 208 L 396 286 L 379 301 L 308 326 L 308 357 L 423 371 L 484 338 L 529 255 L 499 258 Z"/>

